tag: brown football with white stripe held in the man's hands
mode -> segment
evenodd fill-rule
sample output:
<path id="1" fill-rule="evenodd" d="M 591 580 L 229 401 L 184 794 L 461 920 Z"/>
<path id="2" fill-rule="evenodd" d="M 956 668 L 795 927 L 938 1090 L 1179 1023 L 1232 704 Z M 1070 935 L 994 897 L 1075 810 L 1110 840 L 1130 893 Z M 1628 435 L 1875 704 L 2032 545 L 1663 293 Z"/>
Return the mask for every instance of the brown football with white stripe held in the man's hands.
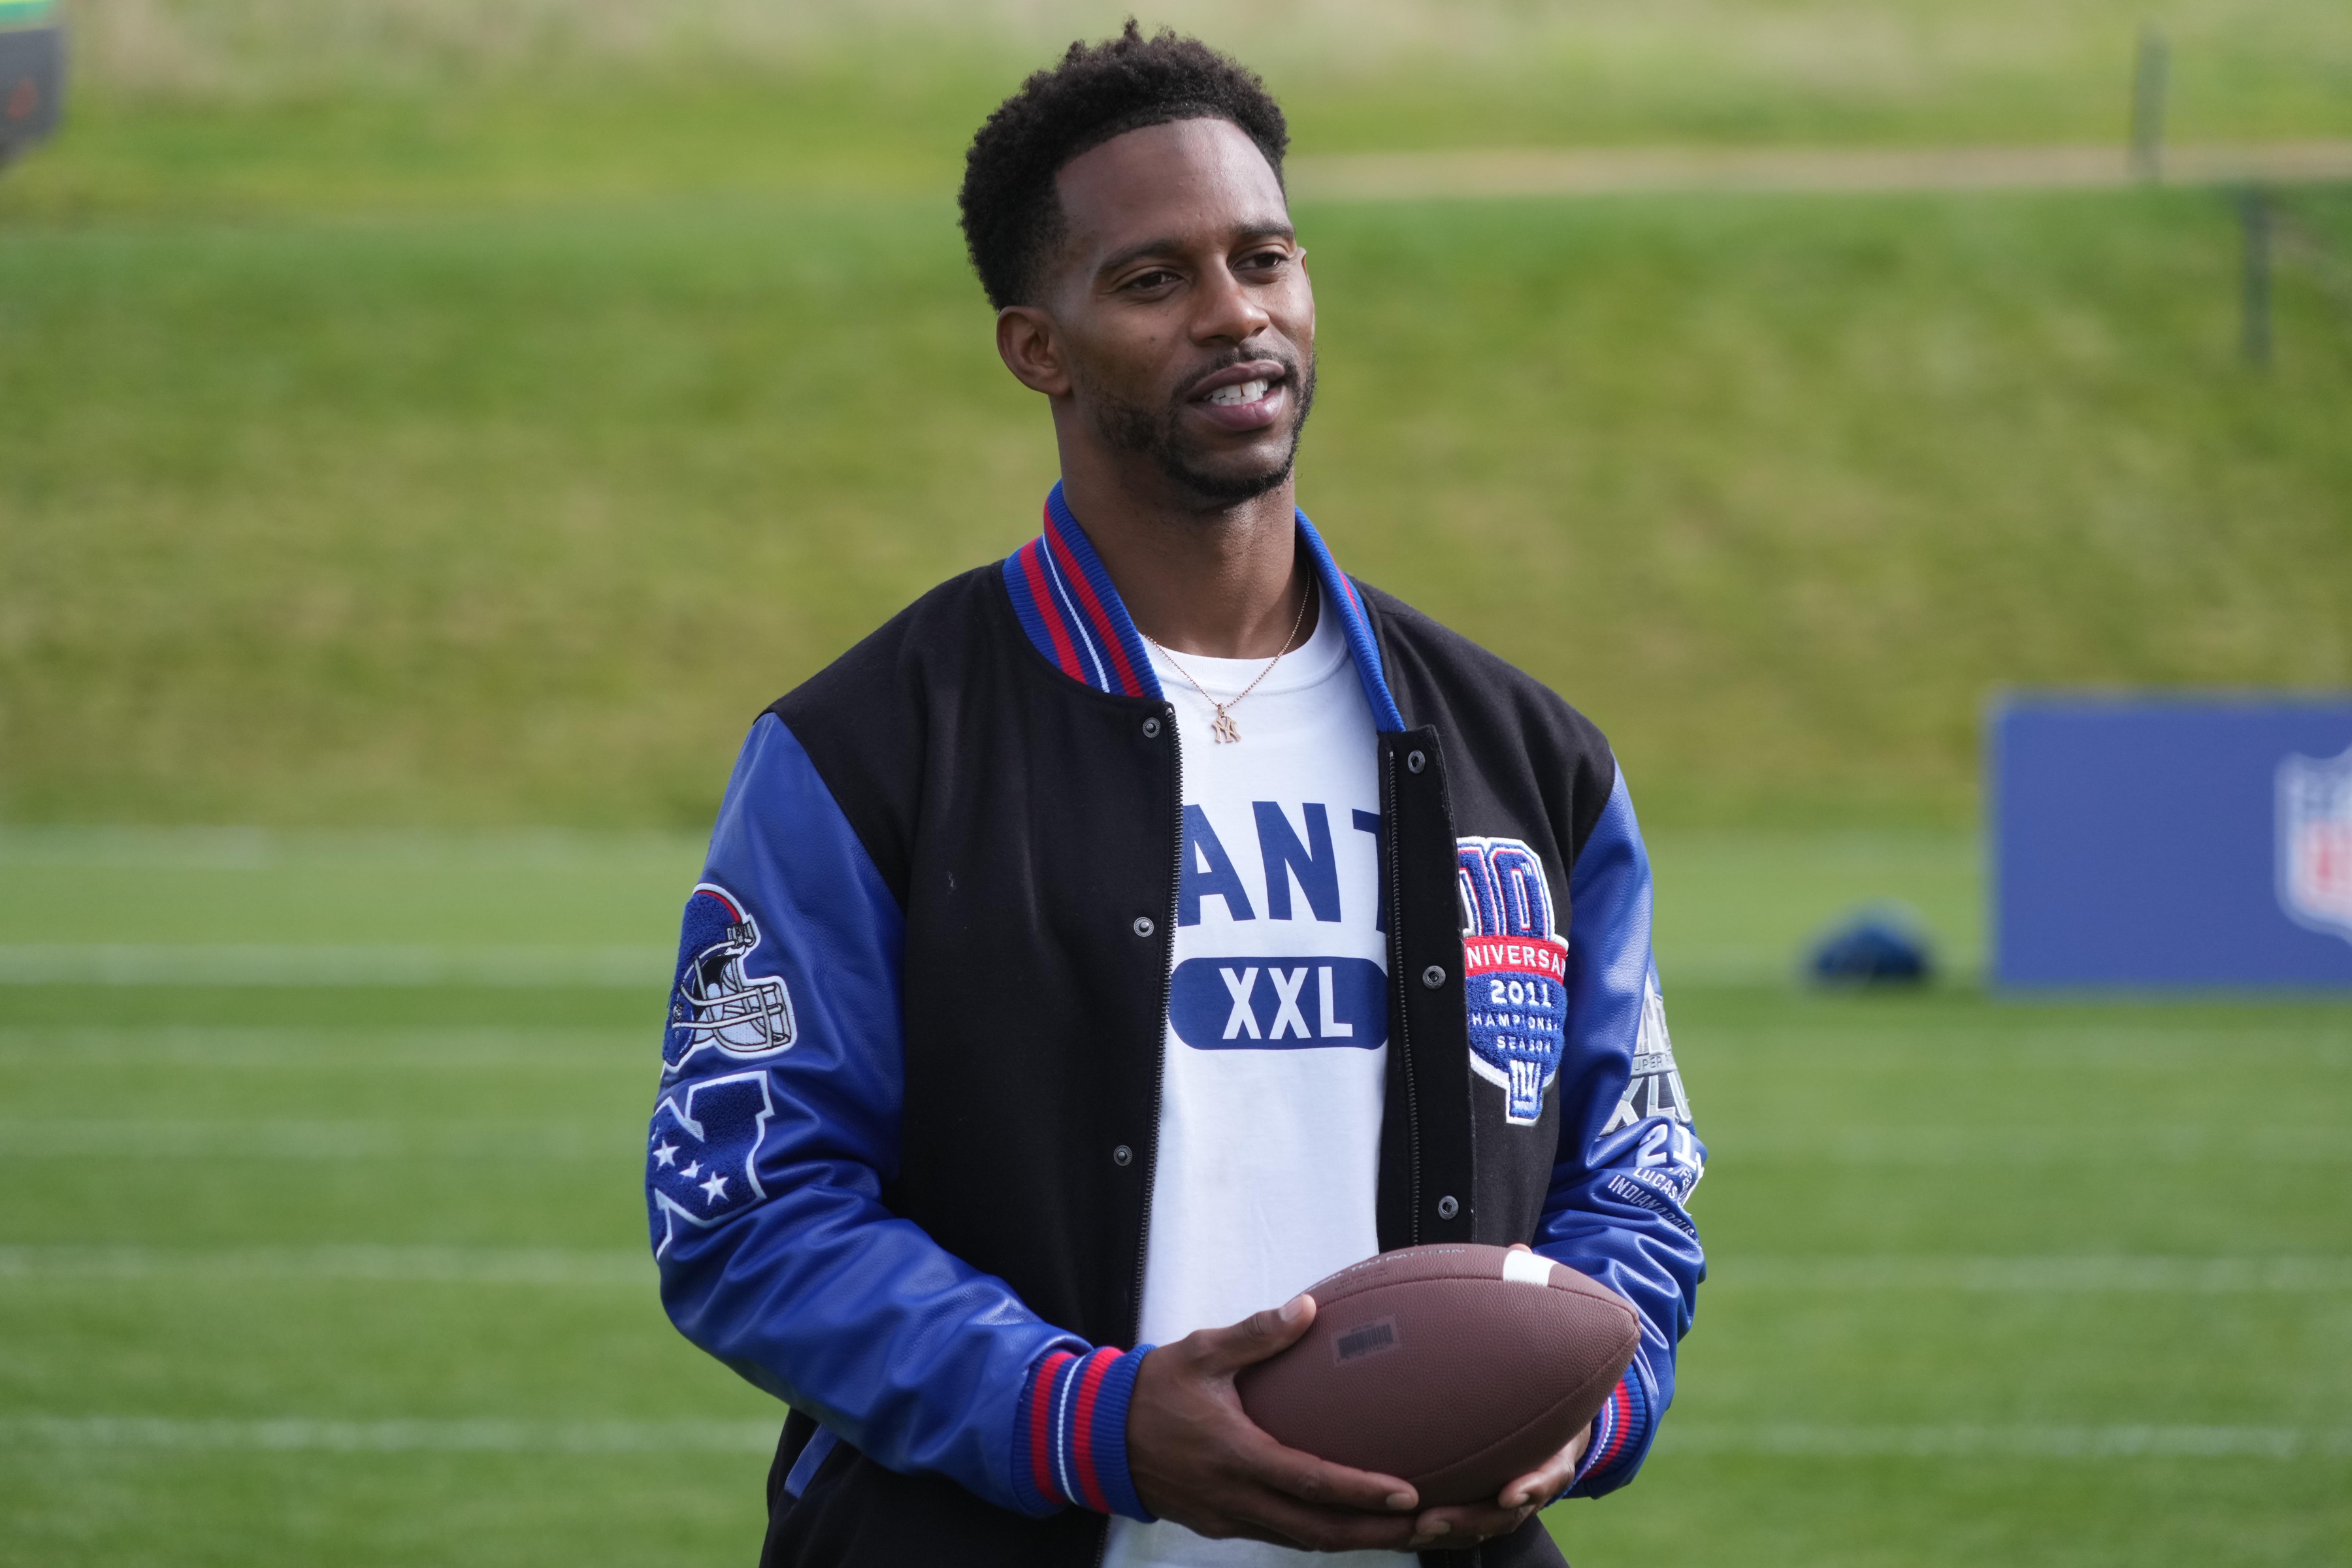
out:
<path id="1" fill-rule="evenodd" d="M 1501 1246 L 1409 1246 L 1308 1286 L 1315 1326 L 1242 1368 L 1277 1441 L 1479 1502 L 1559 1453 L 1632 1361 L 1632 1302 Z"/>

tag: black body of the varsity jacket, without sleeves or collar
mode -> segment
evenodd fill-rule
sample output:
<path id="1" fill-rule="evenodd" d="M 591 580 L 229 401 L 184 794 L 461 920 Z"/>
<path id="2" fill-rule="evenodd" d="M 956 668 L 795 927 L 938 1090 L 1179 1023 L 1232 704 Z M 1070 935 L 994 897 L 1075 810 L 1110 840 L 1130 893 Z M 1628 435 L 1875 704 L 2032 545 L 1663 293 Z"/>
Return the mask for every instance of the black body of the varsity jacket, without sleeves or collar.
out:
<path id="1" fill-rule="evenodd" d="M 1529 1241 L 1552 1185 L 1536 1128 L 1472 1093 L 1456 844 L 1529 844 L 1562 900 L 1609 802 L 1599 731 L 1534 679 L 1362 588 L 1406 729 L 1381 733 L 1390 940 L 1381 1248 Z M 1181 865 L 1176 712 L 1040 658 L 995 567 L 924 595 L 769 710 L 800 738 L 906 912 L 903 1164 L 891 1211 L 1042 1319 L 1131 1345 L 1160 1124 Z M 786 1425 L 764 1568 L 1084 1568 L 1105 1519 L 1028 1519 Z M 1430 1563 L 1557 1563 L 1541 1521 Z"/>

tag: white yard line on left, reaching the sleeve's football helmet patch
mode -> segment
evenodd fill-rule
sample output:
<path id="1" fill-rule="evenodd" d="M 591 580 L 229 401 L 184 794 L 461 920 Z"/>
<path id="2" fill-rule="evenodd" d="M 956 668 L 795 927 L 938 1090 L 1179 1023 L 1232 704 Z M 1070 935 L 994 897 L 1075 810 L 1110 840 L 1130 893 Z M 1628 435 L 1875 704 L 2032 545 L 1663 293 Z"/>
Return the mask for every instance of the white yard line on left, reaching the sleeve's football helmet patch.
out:
<path id="1" fill-rule="evenodd" d="M 588 985 L 661 990 L 668 947 L 0 943 L 0 985 Z"/>

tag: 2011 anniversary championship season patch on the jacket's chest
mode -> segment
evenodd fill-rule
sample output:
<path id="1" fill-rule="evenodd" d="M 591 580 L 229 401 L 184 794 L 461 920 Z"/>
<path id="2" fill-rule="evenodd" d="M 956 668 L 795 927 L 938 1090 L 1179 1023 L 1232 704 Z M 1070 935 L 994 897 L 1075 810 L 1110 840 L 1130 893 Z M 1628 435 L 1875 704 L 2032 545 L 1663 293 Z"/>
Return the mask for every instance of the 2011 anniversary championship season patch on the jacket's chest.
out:
<path id="1" fill-rule="evenodd" d="M 1543 860 L 1519 839 L 1458 839 L 1470 1072 L 1515 1126 L 1543 1119 L 1569 1025 L 1569 945 L 1552 931 Z"/>

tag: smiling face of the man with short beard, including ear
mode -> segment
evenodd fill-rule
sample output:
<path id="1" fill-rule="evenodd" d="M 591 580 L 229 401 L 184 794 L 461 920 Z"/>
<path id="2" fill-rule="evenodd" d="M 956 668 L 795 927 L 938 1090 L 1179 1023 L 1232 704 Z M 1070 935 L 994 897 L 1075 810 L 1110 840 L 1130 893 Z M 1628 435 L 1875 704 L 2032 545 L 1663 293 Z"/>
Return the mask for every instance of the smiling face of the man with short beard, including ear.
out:
<path id="1" fill-rule="evenodd" d="M 1063 242 L 1028 329 L 1025 383 L 1063 440 L 1148 465 L 1190 505 L 1284 484 L 1315 400 L 1315 292 L 1265 155 L 1225 120 L 1112 136 L 1056 179 Z M 1131 480 L 1145 480 L 1134 473 Z"/>

